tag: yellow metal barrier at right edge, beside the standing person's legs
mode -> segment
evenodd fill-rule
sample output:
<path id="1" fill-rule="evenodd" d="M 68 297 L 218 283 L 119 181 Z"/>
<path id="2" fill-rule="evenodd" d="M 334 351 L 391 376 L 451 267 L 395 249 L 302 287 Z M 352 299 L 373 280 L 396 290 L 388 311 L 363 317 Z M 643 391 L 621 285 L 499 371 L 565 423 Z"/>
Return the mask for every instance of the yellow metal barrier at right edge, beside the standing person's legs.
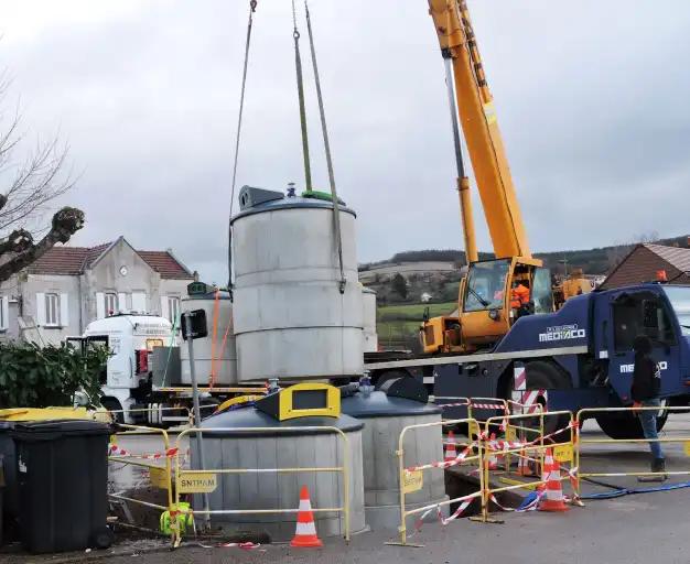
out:
<path id="1" fill-rule="evenodd" d="M 578 424 L 578 429 L 580 429 L 580 424 L 585 420 L 595 414 L 600 413 L 630 413 L 633 415 L 637 415 L 643 411 L 657 411 L 657 412 L 687 412 L 688 408 L 686 406 L 654 406 L 654 408 L 590 408 L 580 410 L 575 416 L 575 423 Z M 575 489 L 578 496 L 580 496 L 581 480 L 583 478 L 604 478 L 604 477 L 623 477 L 623 476 L 688 476 L 690 475 L 690 469 L 688 470 L 679 470 L 679 471 L 658 471 L 654 473 L 649 471 L 606 471 L 606 473 L 595 473 L 595 471 L 582 471 L 582 447 L 584 445 L 592 444 L 638 444 L 638 443 L 682 443 L 683 445 L 690 445 L 690 433 L 687 433 L 684 436 L 679 437 L 664 437 L 664 438 L 586 438 L 583 437 L 581 433 L 579 433 L 579 438 L 576 442 L 575 448 L 575 466 L 578 471 L 575 473 Z"/>

